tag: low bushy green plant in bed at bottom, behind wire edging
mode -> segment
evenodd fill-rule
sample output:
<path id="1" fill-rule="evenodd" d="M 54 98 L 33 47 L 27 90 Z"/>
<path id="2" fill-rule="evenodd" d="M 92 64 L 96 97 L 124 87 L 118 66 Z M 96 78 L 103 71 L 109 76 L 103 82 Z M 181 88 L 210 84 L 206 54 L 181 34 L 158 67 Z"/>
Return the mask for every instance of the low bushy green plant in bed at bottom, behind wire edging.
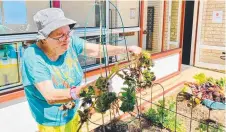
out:
<path id="1" fill-rule="evenodd" d="M 172 112 L 175 110 L 175 102 L 167 102 L 169 104 L 169 110 L 164 109 L 165 105 L 162 100 L 158 102 L 160 104 L 160 107 L 157 109 L 150 108 L 144 115 L 147 119 L 149 119 L 152 122 L 160 123 L 165 128 L 170 129 L 171 131 L 175 131 L 175 112 Z M 184 132 L 185 127 L 182 124 L 180 120 L 177 119 L 176 124 L 176 131 L 177 132 Z"/>

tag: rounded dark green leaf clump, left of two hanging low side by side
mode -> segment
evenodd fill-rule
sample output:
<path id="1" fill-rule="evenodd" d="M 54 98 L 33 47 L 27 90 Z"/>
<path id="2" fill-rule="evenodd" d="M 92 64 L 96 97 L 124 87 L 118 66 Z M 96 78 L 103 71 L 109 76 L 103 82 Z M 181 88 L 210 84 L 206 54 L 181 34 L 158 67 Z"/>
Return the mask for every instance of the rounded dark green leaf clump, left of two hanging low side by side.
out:
<path id="1" fill-rule="evenodd" d="M 105 113 L 111 107 L 111 103 L 113 103 L 117 99 L 116 94 L 114 92 L 104 92 L 101 94 L 95 104 L 95 110 L 99 113 Z"/>

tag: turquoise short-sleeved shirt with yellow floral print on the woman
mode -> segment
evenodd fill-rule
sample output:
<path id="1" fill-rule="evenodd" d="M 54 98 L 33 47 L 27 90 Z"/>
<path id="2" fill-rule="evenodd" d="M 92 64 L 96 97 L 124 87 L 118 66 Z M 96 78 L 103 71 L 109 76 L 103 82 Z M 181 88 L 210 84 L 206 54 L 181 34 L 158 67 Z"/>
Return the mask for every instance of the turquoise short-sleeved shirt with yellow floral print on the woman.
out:
<path id="1" fill-rule="evenodd" d="M 72 110 L 60 111 L 61 104 L 49 105 L 34 84 L 52 80 L 56 89 L 68 86 L 79 86 L 83 78 L 83 70 L 78 55 L 84 49 L 84 40 L 71 37 L 69 49 L 57 61 L 51 61 L 36 45 L 29 46 L 22 59 L 22 79 L 25 94 L 34 119 L 41 125 L 59 126 L 69 122 L 75 115 L 79 100 Z M 64 116 L 67 112 L 67 116 Z"/>

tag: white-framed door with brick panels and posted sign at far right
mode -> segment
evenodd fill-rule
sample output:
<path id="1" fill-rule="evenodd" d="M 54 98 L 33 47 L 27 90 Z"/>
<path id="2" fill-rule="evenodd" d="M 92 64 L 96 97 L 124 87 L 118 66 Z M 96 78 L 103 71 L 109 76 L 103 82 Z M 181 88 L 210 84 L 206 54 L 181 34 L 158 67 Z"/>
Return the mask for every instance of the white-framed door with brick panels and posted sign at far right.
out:
<path id="1" fill-rule="evenodd" d="M 195 66 L 225 70 L 225 1 L 200 1 Z"/>

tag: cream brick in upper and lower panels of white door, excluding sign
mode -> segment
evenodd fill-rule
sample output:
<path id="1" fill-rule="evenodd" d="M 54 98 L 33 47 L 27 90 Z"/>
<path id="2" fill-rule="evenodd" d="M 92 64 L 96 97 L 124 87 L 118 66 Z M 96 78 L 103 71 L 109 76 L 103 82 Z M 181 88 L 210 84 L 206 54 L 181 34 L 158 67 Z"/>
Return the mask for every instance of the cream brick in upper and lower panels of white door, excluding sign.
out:
<path id="1" fill-rule="evenodd" d="M 205 63 L 225 65 L 220 59 L 226 46 L 225 31 L 225 1 L 205 1 L 203 5 L 203 17 L 201 26 L 201 44 L 208 46 L 220 46 L 222 50 L 200 49 L 199 60 Z M 223 11 L 222 23 L 213 23 L 213 11 Z"/>

